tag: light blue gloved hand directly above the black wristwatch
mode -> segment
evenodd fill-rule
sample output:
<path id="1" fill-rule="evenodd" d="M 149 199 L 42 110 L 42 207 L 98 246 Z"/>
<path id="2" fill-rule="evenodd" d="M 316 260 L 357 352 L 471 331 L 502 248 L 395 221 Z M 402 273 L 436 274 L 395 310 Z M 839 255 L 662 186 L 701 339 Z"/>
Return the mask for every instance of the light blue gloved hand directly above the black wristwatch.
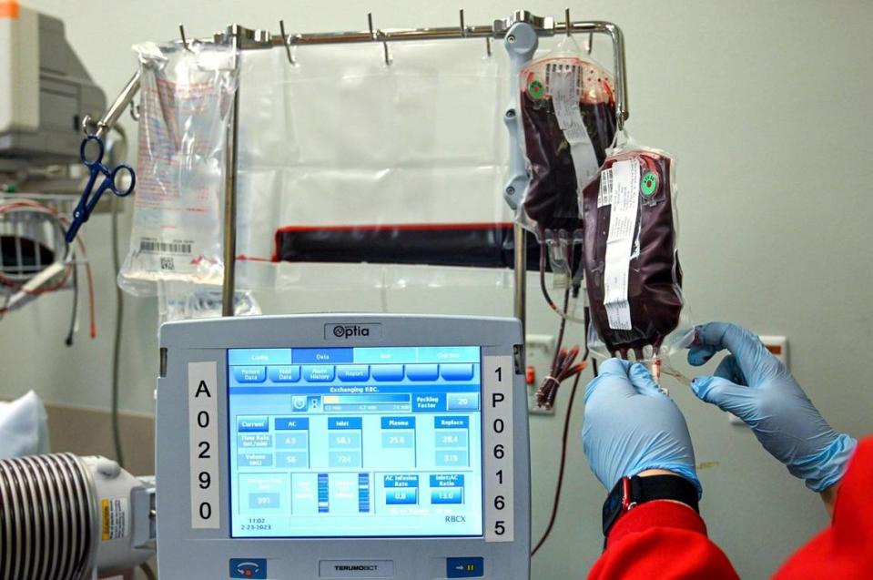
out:
<path id="1" fill-rule="evenodd" d="M 610 359 L 585 389 L 582 443 L 591 471 L 611 490 L 625 475 L 665 469 L 701 494 L 685 417 L 640 363 Z"/>

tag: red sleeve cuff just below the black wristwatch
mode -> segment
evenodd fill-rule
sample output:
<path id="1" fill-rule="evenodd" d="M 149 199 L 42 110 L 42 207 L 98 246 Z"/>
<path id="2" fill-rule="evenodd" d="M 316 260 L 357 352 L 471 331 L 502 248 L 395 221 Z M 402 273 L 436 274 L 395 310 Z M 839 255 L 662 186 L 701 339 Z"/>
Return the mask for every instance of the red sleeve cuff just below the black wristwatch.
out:
<path id="1" fill-rule="evenodd" d="M 606 547 L 589 580 L 739 578 L 725 553 L 709 541 L 703 519 L 673 502 L 634 507 L 614 524 Z"/>

